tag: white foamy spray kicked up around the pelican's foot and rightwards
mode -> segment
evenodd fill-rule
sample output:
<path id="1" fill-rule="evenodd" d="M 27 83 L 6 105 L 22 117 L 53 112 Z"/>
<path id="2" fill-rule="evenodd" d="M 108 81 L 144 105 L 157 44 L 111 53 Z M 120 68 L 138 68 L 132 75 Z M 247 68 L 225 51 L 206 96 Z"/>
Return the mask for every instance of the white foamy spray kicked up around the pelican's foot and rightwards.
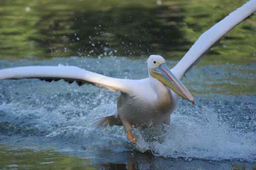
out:
<path id="1" fill-rule="evenodd" d="M 94 111 L 99 113 L 102 108 L 105 108 L 105 111 L 102 112 L 109 114 L 106 108 L 114 111 L 115 105 L 99 106 Z M 163 157 L 255 161 L 255 133 L 243 133 L 229 127 L 220 122 L 217 114 L 207 107 L 203 107 L 203 111 L 197 112 L 196 116 L 193 116 L 193 113 L 181 115 L 178 113 L 179 110 L 171 115 L 170 126 L 158 125 L 148 129 L 134 128 L 133 133 L 137 138 L 138 145 L 134 148 L 129 144 L 129 147 L 139 151 L 149 149 L 155 156 Z M 187 110 L 188 112 L 192 111 Z M 104 116 L 104 113 L 101 113 L 101 116 Z M 111 134 L 115 138 L 117 137 L 112 141 L 113 143 L 120 139 L 123 143 L 128 143 L 122 127 L 114 126 L 104 130 L 104 136 Z"/>

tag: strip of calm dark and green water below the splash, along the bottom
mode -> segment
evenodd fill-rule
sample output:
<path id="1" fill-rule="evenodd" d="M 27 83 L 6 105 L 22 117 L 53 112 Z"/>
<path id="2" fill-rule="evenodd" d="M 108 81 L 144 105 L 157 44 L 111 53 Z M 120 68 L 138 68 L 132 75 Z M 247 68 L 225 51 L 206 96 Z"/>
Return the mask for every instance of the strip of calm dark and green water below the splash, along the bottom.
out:
<path id="1" fill-rule="evenodd" d="M 109 155 L 108 155 L 109 154 Z M 133 154 L 105 151 L 111 159 L 93 157 L 72 157 L 68 153 L 55 150 L 21 149 L 0 144 L 0 169 L 47 169 L 47 170 L 138 170 L 138 169 L 252 169 L 256 166 L 253 163 L 239 163 L 226 161 L 163 159 L 150 154 L 133 152 Z M 118 159 L 119 157 L 123 159 Z M 108 162 L 112 161 L 112 162 Z M 96 164 L 96 165 L 95 165 Z M 167 168 L 165 164 L 170 167 Z"/>

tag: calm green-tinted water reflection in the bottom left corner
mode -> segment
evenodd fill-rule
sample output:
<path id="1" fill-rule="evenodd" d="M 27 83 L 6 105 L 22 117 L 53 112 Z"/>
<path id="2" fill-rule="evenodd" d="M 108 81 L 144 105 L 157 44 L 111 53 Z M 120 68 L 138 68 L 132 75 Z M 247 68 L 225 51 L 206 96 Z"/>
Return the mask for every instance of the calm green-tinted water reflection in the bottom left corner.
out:
<path id="1" fill-rule="evenodd" d="M 69 157 L 54 150 L 15 149 L 0 145 L 0 168 L 8 169 L 49 169 L 73 170 L 99 169 L 92 166 L 91 159 Z"/>

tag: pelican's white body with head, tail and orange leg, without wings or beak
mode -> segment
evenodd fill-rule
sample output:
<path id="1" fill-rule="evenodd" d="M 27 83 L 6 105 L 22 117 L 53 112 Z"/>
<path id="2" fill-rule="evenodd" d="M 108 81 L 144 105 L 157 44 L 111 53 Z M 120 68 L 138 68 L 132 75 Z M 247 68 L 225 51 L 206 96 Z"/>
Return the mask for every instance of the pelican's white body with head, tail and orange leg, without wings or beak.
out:
<path id="1" fill-rule="evenodd" d="M 150 127 L 157 124 L 170 124 L 170 115 L 177 106 L 178 95 L 164 83 L 151 76 L 151 63 L 158 60 L 165 63 L 161 56 L 151 55 L 148 59 L 149 78 L 130 80 L 129 92 L 122 92 L 117 99 L 117 110 L 113 115 L 99 119 L 103 126 L 124 126 L 128 139 L 136 144 L 131 126 Z M 158 64 L 159 65 L 159 64 Z M 167 70 L 169 71 L 169 70 Z M 181 83 L 181 82 L 180 82 Z"/>

